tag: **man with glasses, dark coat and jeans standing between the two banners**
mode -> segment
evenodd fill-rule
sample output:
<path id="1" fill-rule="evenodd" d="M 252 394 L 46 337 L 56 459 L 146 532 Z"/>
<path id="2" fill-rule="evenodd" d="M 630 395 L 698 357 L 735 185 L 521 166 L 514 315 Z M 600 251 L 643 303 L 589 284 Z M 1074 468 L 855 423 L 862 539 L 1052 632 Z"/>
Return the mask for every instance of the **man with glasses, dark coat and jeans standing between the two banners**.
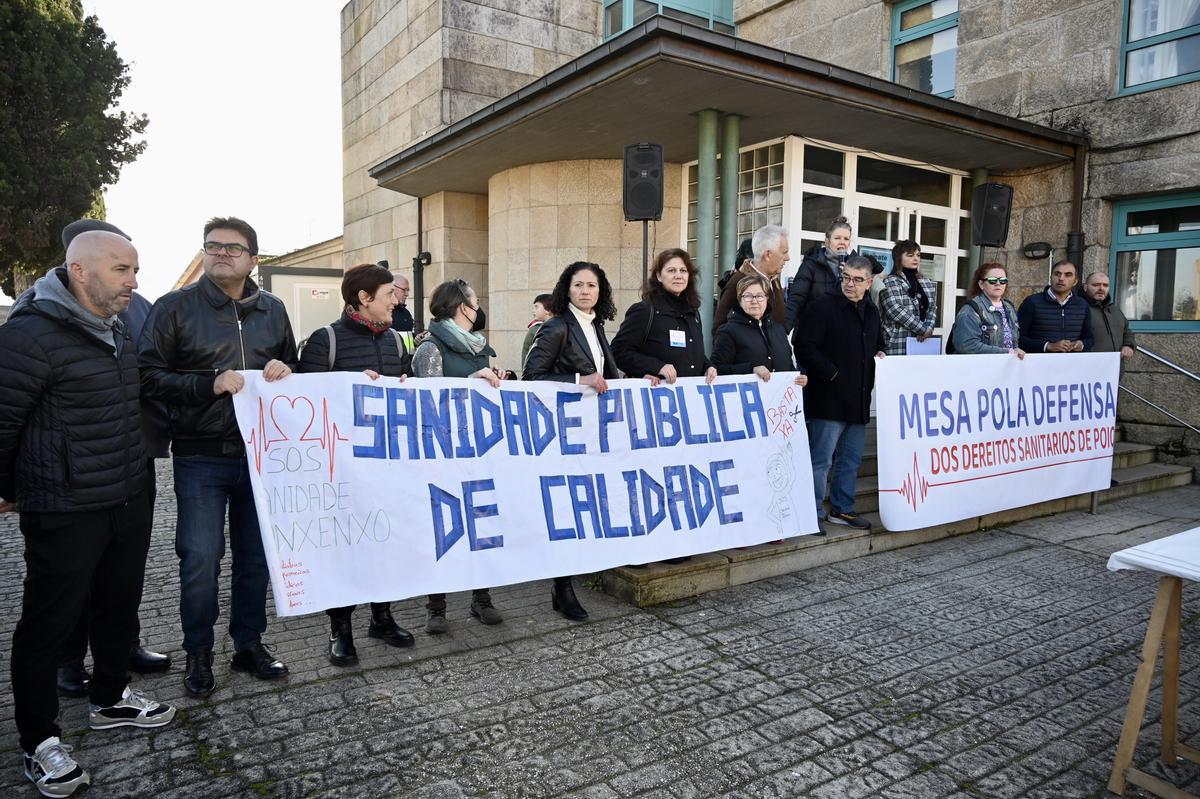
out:
<path id="1" fill-rule="evenodd" d="M 805 308 L 792 338 L 796 360 L 809 376 L 804 413 L 817 518 L 858 530 L 871 529 L 870 522 L 854 513 L 854 485 L 871 417 L 875 360 L 883 358 L 886 347 L 880 312 L 865 299 L 874 269 L 869 258 L 851 256 L 841 268 L 840 286 Z"/>

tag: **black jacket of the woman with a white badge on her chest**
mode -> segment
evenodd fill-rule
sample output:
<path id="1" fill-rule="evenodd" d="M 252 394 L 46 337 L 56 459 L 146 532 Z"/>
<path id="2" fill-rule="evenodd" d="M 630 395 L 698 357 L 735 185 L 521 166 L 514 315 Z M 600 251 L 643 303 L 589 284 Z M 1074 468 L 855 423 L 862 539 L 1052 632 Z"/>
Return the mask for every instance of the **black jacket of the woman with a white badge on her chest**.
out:
<path id="1" fill-rule="evenodd" d="M 671 331 L 683 335 L 683 347 L 671 346 Z M 700 377 L 709 367 L 700 311 L 671 294 L 629 306 L 612 340 L 617 368 L 629 377 L 659 374 L 667 364 L 679 377 Z"/>

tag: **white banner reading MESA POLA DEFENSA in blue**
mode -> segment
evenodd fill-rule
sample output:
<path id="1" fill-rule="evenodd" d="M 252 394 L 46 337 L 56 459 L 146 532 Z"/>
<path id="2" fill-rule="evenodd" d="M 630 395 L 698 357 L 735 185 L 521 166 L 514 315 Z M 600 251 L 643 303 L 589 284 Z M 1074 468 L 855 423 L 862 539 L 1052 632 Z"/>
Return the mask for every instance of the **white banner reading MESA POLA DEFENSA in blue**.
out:
<path id="1" fill-rule="evenodd" d="M 1108 488 L 1120 368 L 1117 353 L 883 359 L 883 527 L 913 530 Z"/>

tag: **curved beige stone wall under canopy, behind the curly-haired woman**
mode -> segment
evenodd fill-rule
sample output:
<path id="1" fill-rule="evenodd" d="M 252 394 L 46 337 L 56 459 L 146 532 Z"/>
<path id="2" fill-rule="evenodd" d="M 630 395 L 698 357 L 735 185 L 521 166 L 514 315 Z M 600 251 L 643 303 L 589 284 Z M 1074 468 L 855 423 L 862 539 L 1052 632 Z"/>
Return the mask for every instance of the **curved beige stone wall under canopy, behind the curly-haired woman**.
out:
<path id="1" fill-rule="evenodd" d="M 611 340 L 642 284 L 642 224 L 625 222 L 622 162 L 560 161 L 516 167 L 487 184 L 488 340 L 497 364 L 520 371 L 533 298 L 551 292 L 568 264 L 600 264 L 612 283 L 617 319 Z M 662 221 L 652 224 L 650 258 L 678 246 L 683 168 L 666 164 Z"/>

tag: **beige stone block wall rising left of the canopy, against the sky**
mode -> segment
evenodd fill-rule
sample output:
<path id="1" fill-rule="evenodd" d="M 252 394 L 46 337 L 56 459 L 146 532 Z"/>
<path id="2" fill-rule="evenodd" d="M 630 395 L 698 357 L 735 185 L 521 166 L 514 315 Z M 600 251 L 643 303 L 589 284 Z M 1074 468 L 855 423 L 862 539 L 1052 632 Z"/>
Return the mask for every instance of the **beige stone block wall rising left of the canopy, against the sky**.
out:
<path id="1" fill-rule="evenodd" d="M 520 89 L 600 41 L 600 0 L 353 0 L 342 10 L 346 264 L 386 259 L 412 272 L 416 204 L 367 170 Z M 473 230 L 472 203 L 426 208 L 437 227 Z M 456 210 L 462 220 L 446 217 Z M 427 224 L 422 221 L 422 228 Z M 460 236 L 461 238 L 461 236 Z M 469 236 L 467 236 L 469 238 Z M 444 242 L 443 242 L 444 244 Z M 455 263 L 438 262 L 431 274 Z M 452 247 L 451 247 L 452 250 Z M 460 252 L 460 256 L 463 254 Z M 426 281 L 426 290 L 436 286 Z M 476 286 L 486 294 L 486 286 Z"/>

